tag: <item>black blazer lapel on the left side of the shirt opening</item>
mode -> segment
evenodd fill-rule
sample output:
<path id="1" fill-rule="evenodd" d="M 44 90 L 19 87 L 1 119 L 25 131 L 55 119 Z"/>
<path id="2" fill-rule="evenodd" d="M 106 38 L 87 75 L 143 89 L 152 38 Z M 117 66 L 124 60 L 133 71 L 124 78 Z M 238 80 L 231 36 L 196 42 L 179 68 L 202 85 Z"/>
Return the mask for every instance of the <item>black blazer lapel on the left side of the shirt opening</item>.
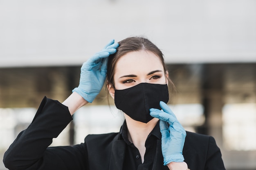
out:
<path id="1" fill-rule="evenodd" d="M 112 143 L 109 170 L 122 170 L 126 143 L 124 140 L 114 140 Z"/>

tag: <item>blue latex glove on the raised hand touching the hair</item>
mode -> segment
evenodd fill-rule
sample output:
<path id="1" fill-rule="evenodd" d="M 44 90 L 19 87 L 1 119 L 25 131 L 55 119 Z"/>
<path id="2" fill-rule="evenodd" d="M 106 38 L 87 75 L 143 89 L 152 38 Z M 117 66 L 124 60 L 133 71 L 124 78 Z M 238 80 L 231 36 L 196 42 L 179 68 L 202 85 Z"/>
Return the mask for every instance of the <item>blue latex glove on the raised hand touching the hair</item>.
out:
<path id="1" fill-rule="evenodd" d="M 119 46 L 112 39 L 100 52 L 97 52 L 81 67 L 79 86 L 72 92 L 78 93 L 88 102 L 92 102 L 101 91 L 106 79 L 108 56 L 114 54 Z"/>

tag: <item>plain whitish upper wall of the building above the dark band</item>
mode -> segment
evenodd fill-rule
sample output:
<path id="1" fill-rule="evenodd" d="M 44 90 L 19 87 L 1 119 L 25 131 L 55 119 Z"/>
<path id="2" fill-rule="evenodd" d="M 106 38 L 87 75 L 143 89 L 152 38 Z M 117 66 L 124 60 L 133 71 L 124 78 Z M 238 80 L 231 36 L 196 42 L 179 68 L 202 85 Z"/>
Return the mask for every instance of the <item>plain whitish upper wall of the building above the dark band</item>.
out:
<path id="1" fill-rule="evenodd" d="M 143 35 L 168 63 L 256 62 L 255 0 L 0 0 L 0 67 L 81 65 Z"/>

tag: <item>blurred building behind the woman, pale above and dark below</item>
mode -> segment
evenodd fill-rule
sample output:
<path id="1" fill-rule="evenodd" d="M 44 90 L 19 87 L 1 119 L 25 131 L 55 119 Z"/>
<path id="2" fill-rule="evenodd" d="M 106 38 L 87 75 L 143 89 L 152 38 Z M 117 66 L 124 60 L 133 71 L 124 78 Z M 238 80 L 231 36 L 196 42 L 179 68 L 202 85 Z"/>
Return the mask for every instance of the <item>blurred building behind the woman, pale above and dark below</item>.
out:
<path id="1" fill-rule="evenodd" d="M 65 100 L 84 61 L 130 36 L 164 53 L 177 87 L 168 104 L 185 129 L 215 137 L 227 170 L 256 170 L 255 0 L 0 0 L 0 159 L 44 96 Z M 52 146 L 119 131 L 124 118 L 106 96 Z"/>

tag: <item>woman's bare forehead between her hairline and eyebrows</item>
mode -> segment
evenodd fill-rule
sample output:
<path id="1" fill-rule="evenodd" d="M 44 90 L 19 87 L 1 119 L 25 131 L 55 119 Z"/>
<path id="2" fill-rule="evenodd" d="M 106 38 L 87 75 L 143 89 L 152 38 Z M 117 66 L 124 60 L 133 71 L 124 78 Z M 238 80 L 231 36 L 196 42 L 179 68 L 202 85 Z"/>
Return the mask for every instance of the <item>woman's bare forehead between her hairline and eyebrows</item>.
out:
<path id="1" fill-rule="evenodd" d="M 135 74 L 135 72 L 151 72 L 164 70 L 161 60 L 153 52 L 140 50 L 128 52 L 117 61 L 115 73 Z"/>

